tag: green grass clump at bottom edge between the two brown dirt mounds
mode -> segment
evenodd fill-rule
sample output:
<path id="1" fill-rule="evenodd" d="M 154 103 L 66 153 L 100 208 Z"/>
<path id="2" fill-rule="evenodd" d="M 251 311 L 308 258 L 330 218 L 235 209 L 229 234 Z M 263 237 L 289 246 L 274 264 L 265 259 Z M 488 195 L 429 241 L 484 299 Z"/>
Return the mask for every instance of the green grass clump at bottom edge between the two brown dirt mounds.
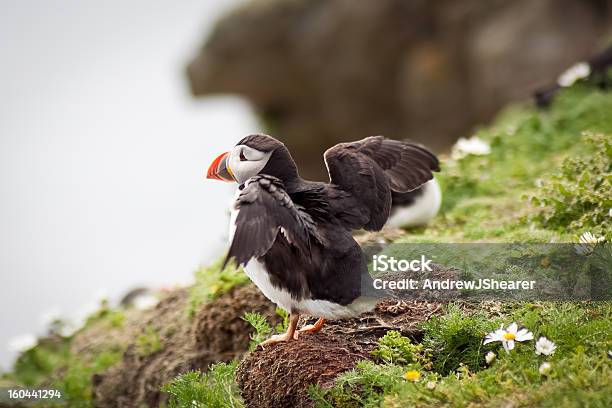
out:
<path id="1" fill-rule="evenodd" d="M 206 374 L 189 371 L 174 378 L 162 390 L 170 394 L 169 408 L 239 408 L 243 406 L 234 372 L 238 362 L 219 363 Z"/>

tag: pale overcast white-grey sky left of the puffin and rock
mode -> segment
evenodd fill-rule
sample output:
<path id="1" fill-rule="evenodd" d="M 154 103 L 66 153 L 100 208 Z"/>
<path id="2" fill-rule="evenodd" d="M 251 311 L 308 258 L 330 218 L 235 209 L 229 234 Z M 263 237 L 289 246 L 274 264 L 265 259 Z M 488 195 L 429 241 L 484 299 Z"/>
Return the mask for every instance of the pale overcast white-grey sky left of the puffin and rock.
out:
<path id="1" fill-rule="evenodd" d="M 1 1 L 0 366 L 101 293 L 191 279 L 225 245 L 214 156 L 257 131 L 185 65 L 231 1 Z"/>

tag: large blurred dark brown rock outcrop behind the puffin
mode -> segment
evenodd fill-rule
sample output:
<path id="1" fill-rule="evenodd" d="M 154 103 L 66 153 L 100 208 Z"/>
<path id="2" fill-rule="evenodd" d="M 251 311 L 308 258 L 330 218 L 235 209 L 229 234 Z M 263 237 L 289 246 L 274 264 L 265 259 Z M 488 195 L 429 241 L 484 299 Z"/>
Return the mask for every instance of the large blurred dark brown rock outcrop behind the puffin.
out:
<path id="1" fill-rule="evenodd" d="M 245 96 L 305 176 L 372 134 L 442 149 L 595 51 L 611 0 L 253 0 L 188 67 L 194 95 Z"/>

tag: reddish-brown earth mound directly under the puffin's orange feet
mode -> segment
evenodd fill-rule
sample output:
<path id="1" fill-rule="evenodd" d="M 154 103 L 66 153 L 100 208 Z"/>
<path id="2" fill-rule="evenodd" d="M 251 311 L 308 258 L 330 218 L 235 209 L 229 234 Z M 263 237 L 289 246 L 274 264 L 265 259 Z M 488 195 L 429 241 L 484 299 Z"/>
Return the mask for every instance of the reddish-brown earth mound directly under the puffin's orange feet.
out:
<path id="1" fill-rule="evenodd" d="M 328 322 L 319 333 L 259 347 L 238 366 L 242 397 L 249 408 L 311 407 L 311 384 L 331 387 L 339 374 L 369 359 L 376 340 L 388 330 L 420 341 L 418 323 L 440 310 L 439 303 L 383 301 L 359 318 Z"/>

